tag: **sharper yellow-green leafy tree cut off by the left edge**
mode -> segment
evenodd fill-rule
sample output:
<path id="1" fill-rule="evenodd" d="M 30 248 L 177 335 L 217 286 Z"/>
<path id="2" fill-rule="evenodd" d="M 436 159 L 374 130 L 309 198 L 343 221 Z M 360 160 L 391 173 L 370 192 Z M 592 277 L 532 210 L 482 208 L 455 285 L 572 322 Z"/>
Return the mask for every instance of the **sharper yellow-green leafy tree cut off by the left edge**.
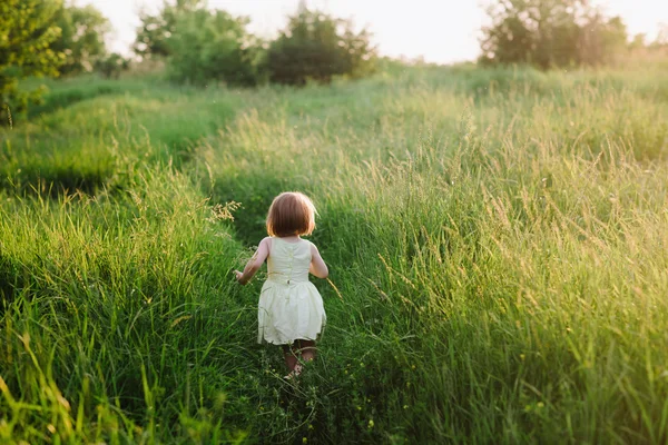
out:
<path id="1" fill-rule="evenodd" d="M 4 0 L 0 3 L 0 126 L 11 126 L 11 112 L 38 101 L 42 89 L 20 91 L 29 76 L 56 76 L 62 55 L 50 48 L 60 36 L 53 22 L 59 0 Z"/>

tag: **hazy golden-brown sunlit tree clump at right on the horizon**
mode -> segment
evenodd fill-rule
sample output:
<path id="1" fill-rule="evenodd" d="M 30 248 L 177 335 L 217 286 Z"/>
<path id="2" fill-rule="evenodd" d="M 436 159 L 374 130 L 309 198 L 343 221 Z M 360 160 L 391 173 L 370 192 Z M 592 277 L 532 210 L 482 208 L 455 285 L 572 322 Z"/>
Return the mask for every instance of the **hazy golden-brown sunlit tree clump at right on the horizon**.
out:
<path id="1" fill-rule="evenodd" d="M 586 0 L 499 0 L 488 8 L 481 61 L 542 69 L 609 63 L 626 49 L 626 26 Z"/>

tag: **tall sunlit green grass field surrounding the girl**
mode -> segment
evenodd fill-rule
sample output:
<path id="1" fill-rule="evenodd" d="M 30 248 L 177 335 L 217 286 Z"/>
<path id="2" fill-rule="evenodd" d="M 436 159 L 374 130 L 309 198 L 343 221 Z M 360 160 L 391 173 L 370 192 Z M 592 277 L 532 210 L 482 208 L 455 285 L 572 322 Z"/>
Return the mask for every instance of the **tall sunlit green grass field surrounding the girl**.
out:
<path id="1" fill-rule="evenodd" d="M 50 89 L 0 129 L 3 443 L 668 442 L 665 63 Z M 229 273 L 293 189 L 298 386 Z"/>

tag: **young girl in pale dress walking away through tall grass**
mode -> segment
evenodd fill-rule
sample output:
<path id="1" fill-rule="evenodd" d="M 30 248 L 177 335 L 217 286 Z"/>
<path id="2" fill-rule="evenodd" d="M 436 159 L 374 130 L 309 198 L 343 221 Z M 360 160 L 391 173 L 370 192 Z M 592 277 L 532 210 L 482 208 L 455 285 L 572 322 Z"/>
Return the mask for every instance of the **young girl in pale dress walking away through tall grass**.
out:
<path id="1" fill-rule="evenodd" d="M 308 273 L 327 278 L 328 271 L 313 243 L 299 238 L 315 228 L 315 207 L 299 192 L 284 192 L 274 198 L 267 215 L 267 234 L 244 271 L 235 270 L 245 285 L 265 259 L 267 280 L 262 286 L 257 320 L 257 342 L 283 345 L 285 364 L 293 378 L 301 374 L 303 362 L 315 358 L 315 340 L 325 322 L 323 299 L 308 281 Z"/>

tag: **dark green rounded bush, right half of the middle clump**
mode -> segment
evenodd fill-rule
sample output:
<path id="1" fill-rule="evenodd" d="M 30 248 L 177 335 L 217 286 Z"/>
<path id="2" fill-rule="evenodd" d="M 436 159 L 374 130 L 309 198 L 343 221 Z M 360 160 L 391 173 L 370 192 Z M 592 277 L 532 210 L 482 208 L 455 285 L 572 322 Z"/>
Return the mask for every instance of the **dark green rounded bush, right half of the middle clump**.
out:
<path id="1" fill-rule="evenodd" d="M 330 83 L 334 76 L 361 77 L 373 70 L 375 48 L 364 29 L 302 6 L 287 29 L 271 43 L 266 55 L 269 80 L 305 85 L 308 79 Z"/>

